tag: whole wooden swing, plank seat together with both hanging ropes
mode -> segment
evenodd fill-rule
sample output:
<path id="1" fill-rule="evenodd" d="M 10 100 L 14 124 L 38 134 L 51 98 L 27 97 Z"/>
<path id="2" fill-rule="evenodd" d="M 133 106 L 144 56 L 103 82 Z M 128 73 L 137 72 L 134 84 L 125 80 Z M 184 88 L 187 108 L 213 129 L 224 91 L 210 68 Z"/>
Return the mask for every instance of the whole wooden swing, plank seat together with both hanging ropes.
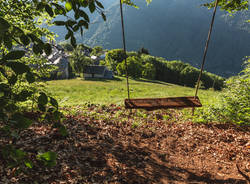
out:
<path id="1" fill-rule="evenodd" d="M 202 107 L 202 104 L 201 104 L 197 94 L 198 94 L 198 89 L 199 89 L 199 85 L 200 85 L 202 72 L 204 70 L 204 64 L 205 64 L 205 60 L 206 60 L 209 41 L 211 38 L 211 33 L 212 33 L 212 29 L 213 29 L 213 24 L 214 24 L 214 19 L 215 19 L 215 15 L 216 15 L 216 9 L 218 6 L 218 2 L 219 2 L 219 0 L 216 0 L 215 6 L 214 6 L 213 16 L 212 16 L 210 28 L 208 31 L 208 37 L 207 37 L 206 45 L 205 45 L 205 49 L 204 49 L 201 70 L 200 70 L 200 74 L 199 74 L 199 77 L 197 80 L 195 95 L 188 96 L 188 97 L 131 99 L 130 98 L 130 91 L 129 91 L 127 57 L 125 57 L 127 93 L 128 93 L 128 98 L 125 99 L 125 101 L 124 101 L 126 109 L 156 110 L 156 109 L 166 109 L 166 108 L 193 108 L 193 112 L 194 112 L 195 107 Z M 124 53 L 126 54 L 126 41 L 125 41 L 125 31 L 124 31 L 122 0 L 120 0 L 120 13 L 121 13 L 121 25 L 122 25 L 123 50 L 124 50 Z"/>

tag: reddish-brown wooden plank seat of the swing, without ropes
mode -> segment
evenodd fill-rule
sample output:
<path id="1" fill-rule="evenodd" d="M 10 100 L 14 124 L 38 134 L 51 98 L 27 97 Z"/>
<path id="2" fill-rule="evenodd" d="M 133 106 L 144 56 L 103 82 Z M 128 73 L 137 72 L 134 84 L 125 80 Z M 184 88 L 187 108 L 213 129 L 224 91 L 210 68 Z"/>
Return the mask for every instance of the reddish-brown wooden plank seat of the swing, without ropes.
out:
<path id="1" fill-rule="evenodd" d="M 192 108 L 201 107 L 198 97 L 169 97 L 169 98 L 136 98 L 125 99 L 126 109 L 168 109 L 168 108 Z"/>

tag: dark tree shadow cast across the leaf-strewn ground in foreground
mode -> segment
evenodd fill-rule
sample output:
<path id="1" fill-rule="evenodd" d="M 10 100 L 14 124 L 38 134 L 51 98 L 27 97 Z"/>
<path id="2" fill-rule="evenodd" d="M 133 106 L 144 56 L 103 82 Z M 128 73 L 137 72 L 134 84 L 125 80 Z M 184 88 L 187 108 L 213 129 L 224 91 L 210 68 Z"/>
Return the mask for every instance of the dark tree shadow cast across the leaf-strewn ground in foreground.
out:
<path id="1" fill-rule="evenodd" d="M 26 151 L 53 150 L 58 158 L 55 167 L 46 170 L 34 167 L 28 175 L 19 178 L 20 183 L 247 183 L 242 179 L 220 179 L 199 169 L 180 167 L 168 152 L 143 145 L 142 140 L 155 137 L 153 133 L 139 134 L 127 125 L 121 128 L 108 121 L 99 126 L 95 120 L 89 122 L 84 118 L 71 117 L 66 123 L 67 137 L 52 130 L 46 136 L 37 135 L 34 130 L 27 131 L 22 139 L 29 136 L 30 141 L 20 142 Z M 172 144 L 176 149 L 176 143 Z"/>

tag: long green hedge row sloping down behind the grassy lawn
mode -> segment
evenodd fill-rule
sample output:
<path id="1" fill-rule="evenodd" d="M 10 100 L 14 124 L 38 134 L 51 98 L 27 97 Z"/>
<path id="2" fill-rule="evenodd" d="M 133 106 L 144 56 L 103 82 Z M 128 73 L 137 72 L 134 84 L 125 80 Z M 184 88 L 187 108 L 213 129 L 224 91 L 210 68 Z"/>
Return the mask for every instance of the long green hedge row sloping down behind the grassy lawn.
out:
<path id="1" fill-rule="evenodd" d="M 116 74 L 125 75 L 125 57 L 122 49 L 114 49 L 106 54 L 105 65 L 109 66 Z M 133 78 L 146 78 L 160 80 L 173 84 L 195 87 L 200 70 L 182 61 L 167 61 L 161 57 L 147 54 L 128 52 L 127 54 L 128 75 Z M 203 72 L 201 84 L 204 89 L 223 88 L 224 78 Z"/>

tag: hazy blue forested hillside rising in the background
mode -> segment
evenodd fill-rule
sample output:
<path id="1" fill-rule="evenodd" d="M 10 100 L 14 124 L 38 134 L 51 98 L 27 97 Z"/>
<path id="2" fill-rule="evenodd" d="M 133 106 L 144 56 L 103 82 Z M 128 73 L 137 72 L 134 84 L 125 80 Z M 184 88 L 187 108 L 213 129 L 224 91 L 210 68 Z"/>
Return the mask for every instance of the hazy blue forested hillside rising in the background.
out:
<path id="1" fill-rule="evenodd" d="M 212 11 L 201 7 L 202 2 L 197 0 L 157 0 L 149 6 L 144 1 L 135 2 L 139 9 L 125 8 L 128 49 L 145 47 L 152 55 L 168 60 L 180 59 L 199 67 Z M 105 8 L 107 21 L 93 15 L 93 24 L 82 38 L 78 35 L 78 42 L 107 49 L 122 47 L 118 1 L 106 2 Z M 231 76 L 241 70 L 242 59 L 250 50 L 250 28 L 245 23 L 249 17 L 249 11 L 235 16 L 218 12 L 206 70 L 222 76 Z M 62 35 L 59 41 L 63 40 Z"/>

